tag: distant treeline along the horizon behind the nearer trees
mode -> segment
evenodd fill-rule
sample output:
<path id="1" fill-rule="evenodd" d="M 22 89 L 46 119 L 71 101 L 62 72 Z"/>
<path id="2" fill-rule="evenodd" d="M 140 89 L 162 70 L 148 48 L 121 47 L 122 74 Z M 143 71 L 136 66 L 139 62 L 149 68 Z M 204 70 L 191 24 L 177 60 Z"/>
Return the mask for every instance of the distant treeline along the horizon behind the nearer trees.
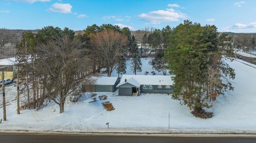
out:
<path id="1" fill-rule="evenodd" d="M 6 29 L 0 28 L 0 58 L 2 57 L 14 57 L 15 56 L 15 45 L 19 44 L 22 39 L 22 33 L 24 31 L 32 31 L 32 33 L 38 33 L 40 29 L 34 30 L 24 30 L 24 29 Z M 155 29 L 153 27 L 145 27 L 141 30 L 131 31 L 131 35 L 134 35 L 138 43 L 142 43 L 143 35 L 150 35 L 153 33 Z M 84 33 L 84 30 L 74 31 L 75 35 L 78 33 Z M 256 33 L 233 33 L 233 32 L 220 32 L 226 33 L 232 37 L 232 41 L 235 45 L 238 45 L 238 48 L 244 49 L 244 51 L 248 51 L 246 47 L 255 47 L 255 36 Z M 4 46 L 5 45 L 5 46 Z M 3 55 L 3 50 L 9 50 L 5 53 L 8 55 Z M 252 48 L 254 51 L 255 48 Z"/>

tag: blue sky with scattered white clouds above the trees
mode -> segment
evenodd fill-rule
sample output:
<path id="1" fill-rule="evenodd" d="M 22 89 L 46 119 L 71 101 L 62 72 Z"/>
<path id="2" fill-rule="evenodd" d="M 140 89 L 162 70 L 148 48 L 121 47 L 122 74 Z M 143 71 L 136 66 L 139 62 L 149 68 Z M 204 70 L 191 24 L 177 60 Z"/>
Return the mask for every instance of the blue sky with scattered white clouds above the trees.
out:
<path id="1" fill-rule="evenodd" d="M 0 28 L 7 29 L 162 29 L 183 20 L 215 25 L 220 32 L 256 32 L 256 0 L 0 0 Z"/>

